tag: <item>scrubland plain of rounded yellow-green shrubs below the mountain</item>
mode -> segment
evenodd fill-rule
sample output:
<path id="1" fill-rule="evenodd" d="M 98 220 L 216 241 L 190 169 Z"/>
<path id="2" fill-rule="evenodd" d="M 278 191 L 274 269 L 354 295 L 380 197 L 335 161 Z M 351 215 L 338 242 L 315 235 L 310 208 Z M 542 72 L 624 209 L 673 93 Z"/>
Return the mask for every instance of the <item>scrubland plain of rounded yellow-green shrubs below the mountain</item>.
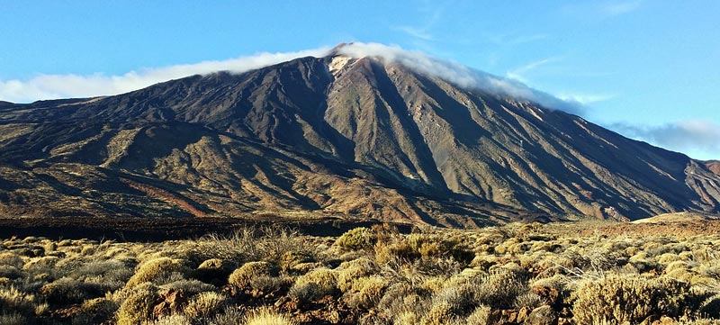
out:
<path id="1" fill-rule="evenodd" d="M 718 224 L 684 226 L 2 239 L 0 324 L 720 324 Z"/>

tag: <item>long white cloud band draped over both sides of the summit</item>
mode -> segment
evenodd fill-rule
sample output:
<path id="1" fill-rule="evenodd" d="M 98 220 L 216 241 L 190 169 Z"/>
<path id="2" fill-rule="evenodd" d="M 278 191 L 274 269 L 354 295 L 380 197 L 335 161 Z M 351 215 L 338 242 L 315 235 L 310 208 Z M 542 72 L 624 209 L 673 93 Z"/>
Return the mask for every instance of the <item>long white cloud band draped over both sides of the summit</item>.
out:
<path id="1" fill-rule="evenodd" d="M 0 100 L 23 103 L 39 99 L 116 95 L 170 79 L 196 74 L 208 74 L 221 70 L 239 73 L 290 59 L 306 56 L 322 57 L 327 55 L 329 50 L 329 48 L 324 47 L 288 53 L 261 53 L 238 59 L 203 61 L 164 68 L 148 68 L 130 71 L 119 76 L 105 76 L 103 74 L 89 76 L 40 75 L 26 81 L 0 80 Z M 420 73 L 446 79 L 457 86 L 477 88 L 493 94 L 533 101 L 551 109 L 581 113 L 582 107 L 578 103 L 563 101 L 552 95 L 532 89 L 516 80 L 492 76 L 455 62 L 434 59 L 417 50 L 403 50 L 399 46 L 388 46 L 380 43 L 356 42 L 342 47 L 339 49 L 339 53 L 353 58 L 378 57 L 398 62 Z"/>

